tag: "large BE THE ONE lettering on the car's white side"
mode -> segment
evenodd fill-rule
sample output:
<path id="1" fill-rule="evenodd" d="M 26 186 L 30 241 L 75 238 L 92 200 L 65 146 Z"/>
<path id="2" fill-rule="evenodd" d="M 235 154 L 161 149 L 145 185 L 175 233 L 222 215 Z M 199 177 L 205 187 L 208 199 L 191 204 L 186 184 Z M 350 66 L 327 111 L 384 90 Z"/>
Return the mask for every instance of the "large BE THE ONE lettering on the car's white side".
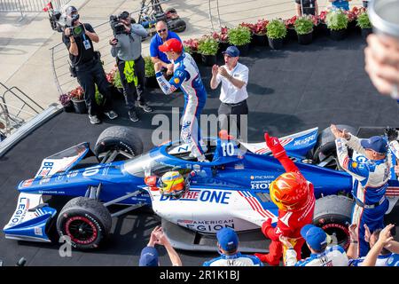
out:
<path id="1" fill-rule="evenodd" d="M 200 201 L 207 203 L 229 204 L 231 192 L 214 190 L 190 190 L 179 199 L 170 198 L 170 196 L 161 195 L 160 201 Z"/>

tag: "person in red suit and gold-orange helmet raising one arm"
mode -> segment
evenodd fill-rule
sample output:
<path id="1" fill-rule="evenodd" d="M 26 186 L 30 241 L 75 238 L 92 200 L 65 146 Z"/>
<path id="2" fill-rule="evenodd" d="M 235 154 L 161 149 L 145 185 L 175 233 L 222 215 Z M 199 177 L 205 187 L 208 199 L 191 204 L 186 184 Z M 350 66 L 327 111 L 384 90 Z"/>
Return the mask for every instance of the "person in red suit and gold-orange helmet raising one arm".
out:
<path id="1" fill-rule="evenodd" d="M 262 262 L 278 265 L 281 256 L 286 258 L 286 246 L 280 241 L 284 236 L 293 245 L 297 259 L 301 259 L 301 248 L 305 240 L 301 236 L 301 228 L 312 223 L 315 210 L 315 193 L 313 185 L 301 175 L 300 170 L 286 155 L 278 138 L 265 133 L 266 145 L 273 156 L 278 159 L 286 173 L 280 175 L 270 184 L 270 198 L 278 206 L 278 223 L 272 227 L 268 218 L 262 224 L 262 233 L 270 242 L 269 254 L 255 254 Z"/>

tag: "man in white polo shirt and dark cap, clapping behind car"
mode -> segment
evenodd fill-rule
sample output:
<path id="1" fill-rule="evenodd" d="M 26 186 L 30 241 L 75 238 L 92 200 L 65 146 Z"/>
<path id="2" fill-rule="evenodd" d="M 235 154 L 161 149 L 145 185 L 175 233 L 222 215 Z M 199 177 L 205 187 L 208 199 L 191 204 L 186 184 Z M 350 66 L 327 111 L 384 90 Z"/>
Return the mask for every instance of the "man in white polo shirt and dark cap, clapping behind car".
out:
<path id="1" fill-rule="evenodd" d="M 248 114 L 248 106 L 246 99 L 248 92 L 246 84 L 248 83 L 248 67 L 239 63 L 239 49 L 236 46 L 229 46 L 223 51 L 224 65 L 212 67 L 212 79 L 210 87 L 215 90 L 219 83 L 222 82 L 222 91 L 219 99 L 222 101 L 217 111 L 221 130 L 234 130 L 232 125 L 229 128 L 229 120 L 237 125 L 237 133 L 241 131 L 242 115 Z M 246 121 L 246 120 L 245 120 Z M 244 126 L 246 127 L 246 125 Z"/>

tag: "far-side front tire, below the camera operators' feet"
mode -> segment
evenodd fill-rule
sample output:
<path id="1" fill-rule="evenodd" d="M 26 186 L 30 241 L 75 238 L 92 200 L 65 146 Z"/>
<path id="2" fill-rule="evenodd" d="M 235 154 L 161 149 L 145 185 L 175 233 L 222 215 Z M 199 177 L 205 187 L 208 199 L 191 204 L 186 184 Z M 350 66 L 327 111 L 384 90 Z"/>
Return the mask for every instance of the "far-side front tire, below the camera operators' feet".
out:
<path id="1" fill-rule="evenodd" d="M 137 131 L 126 126 L 111 126 L 98 136 L 94 153 L 98 156 L 113 150 L 121 150 L 133 156 L 143 154 L 143 141 Z M 124 157 L 124 160 L 127 158 Z"/>

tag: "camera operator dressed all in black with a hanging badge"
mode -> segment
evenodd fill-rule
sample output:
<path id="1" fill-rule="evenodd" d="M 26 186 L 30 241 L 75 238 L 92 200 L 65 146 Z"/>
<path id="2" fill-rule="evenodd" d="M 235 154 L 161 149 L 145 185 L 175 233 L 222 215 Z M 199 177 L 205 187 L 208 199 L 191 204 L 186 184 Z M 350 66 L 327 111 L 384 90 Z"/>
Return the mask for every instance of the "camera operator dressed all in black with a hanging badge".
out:
<path id="1" fill-rule="evenodd" d="M 112 110 L 111 86 L 106 80 L 106 73 L 100 61 L 98 51 L 94 51 L 93 43 L 99 38 L 90 24 L 82 24 L 74 6 L 66 8 L 66 28 L 62 34 L 62 41 L 66 44 L 71 59 L 71 74 L 75 76 L 84 91 L 84 100 L 89 110 L 90 123 L 100 123 L 100 106 L 96 103 L 96 86 L 105 97 L 104 114 L 110 119 L 118 117 Z"/>

